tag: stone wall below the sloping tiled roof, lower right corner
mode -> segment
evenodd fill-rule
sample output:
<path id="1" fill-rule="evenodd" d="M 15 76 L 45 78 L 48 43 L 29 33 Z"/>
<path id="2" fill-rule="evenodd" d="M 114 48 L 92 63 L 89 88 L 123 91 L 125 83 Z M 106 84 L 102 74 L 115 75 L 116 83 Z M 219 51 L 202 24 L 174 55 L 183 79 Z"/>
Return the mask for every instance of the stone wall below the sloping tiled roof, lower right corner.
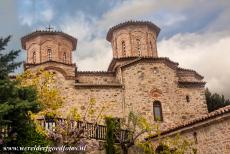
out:
<path id="1" fill-rule="evenodd" d="M 181 139 L 192 142 L 192 146 L 197 149 L 197 154 L 229 154 L 230 153 L 230 115 L 226 118 L 207 119 L 201 124 L 194 124 L 179 131 Z M 199 125 L 199 126 L 198 126 Z M 177 132 L 174 132 L 174 135 Z M 173 134 L 167 137 L 173 137 Z M 165 136 L 166 137 L 166 136 Z M 154 139 L 153 144 L 158 145 L 158 140 Z"/>

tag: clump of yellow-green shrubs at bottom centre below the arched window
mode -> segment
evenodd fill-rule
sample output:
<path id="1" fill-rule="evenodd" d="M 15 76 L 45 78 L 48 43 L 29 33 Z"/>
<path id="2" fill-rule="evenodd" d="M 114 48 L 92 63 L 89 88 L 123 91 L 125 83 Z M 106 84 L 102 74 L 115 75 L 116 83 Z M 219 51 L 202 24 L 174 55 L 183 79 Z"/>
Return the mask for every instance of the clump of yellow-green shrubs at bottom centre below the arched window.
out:
<path id="1" fill-rule="evenodd" d="M 195 153 L 193 142 L 183 138 L 179 134 L 164 138 L 161 136 L 159 123 L 151 125 L 147 120 L 138 113 L 130 112 L 127 121 L 122 120 L 121 123 L 116 122 L 116 119 L 109 118 L 107 128 L 106 147 L 110 147 L 107 152 L 113 153 L 111 149 L 115 149 L 115 140 L 123 154 L 128 154 L 131 147 L 135 149 L 135 153 L 145 154 L 184 154 Z M 107 130 L 107 131 L 109 131 Z M 146 140 L 146 137 L 157 134 L 158 143 L 153 143 L 151 140 Z M 115 151 L 116 152 L 116 151 Z"/>

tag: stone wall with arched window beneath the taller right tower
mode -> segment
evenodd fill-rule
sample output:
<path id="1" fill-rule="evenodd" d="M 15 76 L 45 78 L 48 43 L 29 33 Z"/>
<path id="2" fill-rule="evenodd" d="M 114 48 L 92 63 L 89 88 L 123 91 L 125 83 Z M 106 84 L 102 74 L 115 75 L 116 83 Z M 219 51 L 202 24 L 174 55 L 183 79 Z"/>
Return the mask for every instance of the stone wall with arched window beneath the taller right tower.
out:
<path id="1" fill-rule="evenodd" d="M 122 72 L 126 113 L 140 112 L 153 123 L 153 102 L 158 100 L 162 104 L 164 128 L 207 113 L 204 88 L 179 88 L 176 71 L 163 63 L 140 62 L 122 68 Z M 190 102 L 186 102 L 186 95 Z"/>

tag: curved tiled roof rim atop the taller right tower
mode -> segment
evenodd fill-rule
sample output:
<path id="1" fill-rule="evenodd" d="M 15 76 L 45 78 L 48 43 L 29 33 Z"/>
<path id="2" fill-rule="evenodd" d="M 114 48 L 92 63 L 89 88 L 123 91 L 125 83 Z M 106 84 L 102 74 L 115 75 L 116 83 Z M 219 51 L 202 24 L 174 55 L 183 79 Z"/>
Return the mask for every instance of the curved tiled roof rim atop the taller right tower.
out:
<path id="1" fill-rule="evenodd" d="M 125 26 L 129 26 L 129 25 L 146 25 L 146 26 L 154 29 L 156 31 L 157 35 L 160 32 L 160 28 L 157 27 L 155 24 L 153 24 L 150 21 L 126 21 L 126 22 L 120 23 L 120 24 L 118 24 L 118 25 L 110 28 L 109 31 L 108 31 L 108 33 L 107 33 L 106 40 L 107 41 L 111 41 L 112 34 L 113 34 L 114 30 L 117 30 L 119 28 L 123 28 Z"/>

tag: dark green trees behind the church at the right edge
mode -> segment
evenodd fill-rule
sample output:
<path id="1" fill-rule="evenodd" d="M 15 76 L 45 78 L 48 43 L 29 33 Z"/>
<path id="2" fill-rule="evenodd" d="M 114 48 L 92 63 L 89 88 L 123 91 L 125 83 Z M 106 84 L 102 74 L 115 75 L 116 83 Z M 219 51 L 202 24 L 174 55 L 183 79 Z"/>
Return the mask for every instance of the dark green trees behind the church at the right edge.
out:
<path id="1" fill-rule="evenodd" d="M 226 105 L 230 105 L 230 100 L 225 99 L 224 95 L 212 94 L 208 89 L 205 90 L 208 111 L 212 112 Z"/>

